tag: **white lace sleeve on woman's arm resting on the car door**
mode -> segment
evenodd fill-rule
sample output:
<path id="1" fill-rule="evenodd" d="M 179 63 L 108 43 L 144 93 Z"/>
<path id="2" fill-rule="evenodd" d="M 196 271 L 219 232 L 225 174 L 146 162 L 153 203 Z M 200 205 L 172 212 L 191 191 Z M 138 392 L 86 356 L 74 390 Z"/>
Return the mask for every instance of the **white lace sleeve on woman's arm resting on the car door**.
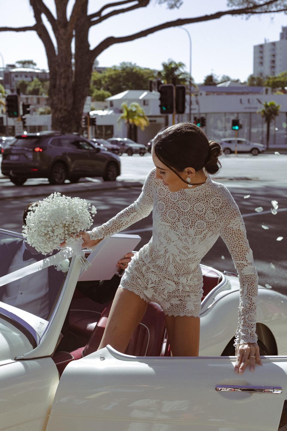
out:
<path id="1" fill-rule="evenodd" d="M 246 237 L 243 219 L 235 200 L 229 192 L 220 236 L 228 247 L 239 275 L 240 301 L 238 328 L 234 346 L 241 343 L 256 343 L 258 275 L 253 263 L 252 250 Z"/>

